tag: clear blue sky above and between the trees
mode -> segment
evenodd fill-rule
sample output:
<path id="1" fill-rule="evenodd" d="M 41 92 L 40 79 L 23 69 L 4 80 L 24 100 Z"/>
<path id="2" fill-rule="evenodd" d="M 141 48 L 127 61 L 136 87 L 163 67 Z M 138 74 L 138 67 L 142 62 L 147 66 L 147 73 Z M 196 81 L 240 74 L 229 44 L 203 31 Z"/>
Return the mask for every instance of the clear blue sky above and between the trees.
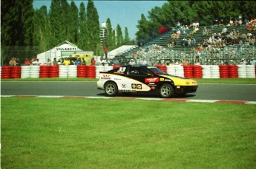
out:
<path id="1" fill-rule="evenodd" d="M 84 2 L 87 7 L 88 1 L 73 0 L 76 3 L 76 7 Z M 69 1 L 69 4 L 71 1 Z M 154 7 L 162 7 L 167 1 L 98 1 L 94 0 L 93 4 L 99 14 L 99 24 L 107 21 L 110 18 L 112 27 L 116 28 L 117 24 L 122 28 L 122 35 L 125 35 L 125 27 L 128 28 L 129 37 L 131 39 L 136 38 L 137 24 L 143 13 L 145 17 L 148 16 L 148 11 L 151 11 Z M 50 10 L 51 0 L 34 0 L 33 8 L 39 9 L 43 5 Z"/>

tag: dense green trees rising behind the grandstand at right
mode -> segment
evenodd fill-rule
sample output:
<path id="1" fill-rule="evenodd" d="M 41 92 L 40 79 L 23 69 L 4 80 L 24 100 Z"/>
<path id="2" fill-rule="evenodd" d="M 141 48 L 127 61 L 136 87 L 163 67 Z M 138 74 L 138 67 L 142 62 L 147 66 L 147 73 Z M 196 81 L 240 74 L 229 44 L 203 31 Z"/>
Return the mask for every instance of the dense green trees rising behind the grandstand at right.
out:
<path id="1" fill-rule="evenodd" d="M 190 25 L 197 20 L 201 26 L 213 25 L 215 20 L 223 19 L 224 24 L 229 20 L 243 19 L 250 21 L 255 18 L 255 1 L 171 1 L 162 7 L 154 7 L 148 11 L 148 16 L 141 15 L 138 21 L 138 40 L 148 41 L 156 37 L 160 27 L 175 27 L 178 21 Z"/>

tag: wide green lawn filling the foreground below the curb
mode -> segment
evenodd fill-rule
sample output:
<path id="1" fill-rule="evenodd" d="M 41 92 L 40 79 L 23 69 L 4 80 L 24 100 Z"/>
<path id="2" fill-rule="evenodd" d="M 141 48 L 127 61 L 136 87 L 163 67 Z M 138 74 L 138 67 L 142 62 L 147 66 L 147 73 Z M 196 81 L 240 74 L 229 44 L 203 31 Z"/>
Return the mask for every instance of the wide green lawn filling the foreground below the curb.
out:
<path id="1" fill-rule="evenodd" d="M 1 168 L 255 168 L 256 106 L 1 98 Z"/>

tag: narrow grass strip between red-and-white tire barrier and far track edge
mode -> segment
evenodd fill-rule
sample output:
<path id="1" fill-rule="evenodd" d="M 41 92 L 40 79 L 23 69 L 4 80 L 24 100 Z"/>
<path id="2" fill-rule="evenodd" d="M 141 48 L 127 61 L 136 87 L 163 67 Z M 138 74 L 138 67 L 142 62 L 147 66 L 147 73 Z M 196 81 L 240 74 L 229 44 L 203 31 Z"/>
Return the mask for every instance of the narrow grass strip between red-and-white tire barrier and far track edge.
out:
<path id="1" fill-rule="evenodd" d="M 26 79 L 1 79 L 1 81 L 97 81 L 93 78 L 26 78 Z M 229 78 L 229 79 L 194 79 L 197 83 L 232 83 L 256 84 L 255 78 Z"/>

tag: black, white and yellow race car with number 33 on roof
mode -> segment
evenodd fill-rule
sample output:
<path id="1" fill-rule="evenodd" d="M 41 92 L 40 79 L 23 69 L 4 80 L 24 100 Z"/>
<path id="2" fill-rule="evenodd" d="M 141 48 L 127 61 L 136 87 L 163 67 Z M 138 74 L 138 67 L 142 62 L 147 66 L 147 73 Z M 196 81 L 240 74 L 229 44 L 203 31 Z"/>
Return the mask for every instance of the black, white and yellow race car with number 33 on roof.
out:
<path id="1" fill-rule="evenodd" d="M 155 66 L 120 66 L 108 72 L 99 72 L 97 89 L 105 90 L 108 97 L 119 92 L 158 92 L 160 97 L 197 92 L 197 82 L 185 77 L 168 75 Z"/>

